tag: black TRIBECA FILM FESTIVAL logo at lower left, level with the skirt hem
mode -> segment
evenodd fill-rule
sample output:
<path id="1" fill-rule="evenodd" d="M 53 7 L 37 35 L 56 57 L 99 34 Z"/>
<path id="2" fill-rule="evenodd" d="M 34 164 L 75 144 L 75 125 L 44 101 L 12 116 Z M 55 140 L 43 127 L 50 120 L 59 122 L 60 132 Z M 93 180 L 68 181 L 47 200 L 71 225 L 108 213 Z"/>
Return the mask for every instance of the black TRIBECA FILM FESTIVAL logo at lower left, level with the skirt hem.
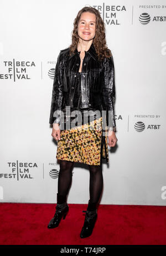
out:
<path id="1" fill-rule="evenodd" d="M 11 173 L 0 173 L 0 178 L 4 179 L 33 179 L 30 171 L 33 168 L 38 168 L 36 163 L 23 163 L 23 162 L 8 162 L 8 167 Z"/>

